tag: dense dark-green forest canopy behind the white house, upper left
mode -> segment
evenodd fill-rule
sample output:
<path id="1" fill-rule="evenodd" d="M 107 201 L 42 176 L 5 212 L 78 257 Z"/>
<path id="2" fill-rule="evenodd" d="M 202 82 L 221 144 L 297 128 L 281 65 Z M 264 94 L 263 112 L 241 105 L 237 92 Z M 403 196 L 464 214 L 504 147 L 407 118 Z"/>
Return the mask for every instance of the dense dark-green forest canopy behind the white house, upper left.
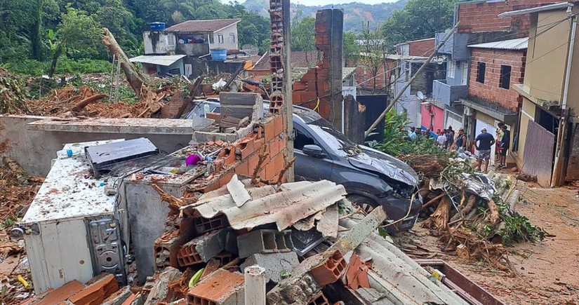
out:
<path id="1" fill-rule="evenodd" d="M 65 32 L 67 17 L 91 20 L 91 27 L 76 25 L 79 33 L 89 34 L 97 28 L 90 35 L 100 36 L 100 27 L 107 27 L 121 47 L 134 55 L 142 50 L 142 31 L 149 22 L 156 21 L 171 26 L 185 20 L 241 18 L 237 26 L 239 46 L 252 44 L 262 51 L 269 48 L 269 20 L 247 11 L 237 1 L 222 4 L 218 0 L 11 0 L 0 1 L 0 63 L 50 60 L 55 53 L 54 43 L 64 39 L 59 32 Z M 64 53 L 67 57 L 109 57 L 104 48 L 73 44 L 63 44 L 69 50 Z"/>

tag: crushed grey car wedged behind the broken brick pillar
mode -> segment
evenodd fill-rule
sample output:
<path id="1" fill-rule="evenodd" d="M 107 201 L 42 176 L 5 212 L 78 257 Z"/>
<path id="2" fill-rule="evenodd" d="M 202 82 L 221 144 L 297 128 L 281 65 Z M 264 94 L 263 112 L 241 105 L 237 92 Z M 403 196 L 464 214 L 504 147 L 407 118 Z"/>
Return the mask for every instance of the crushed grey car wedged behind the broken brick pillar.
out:
<path id="1" fill-rule="evenodd" d="M 202 102 L 189 112 L 220 111 L 219 102 Z M 390 233 L 411 229 L 420 213 L 418 175 L 406 163 L 381 151 L 352 143 L 317 112 L 293 107 L 295 179 L 327 179 L 342 184 L 347 198 L 366 212 L 382 205 L 394 223 Z M 413 201 L 411 202 L 411 198 Z"/>

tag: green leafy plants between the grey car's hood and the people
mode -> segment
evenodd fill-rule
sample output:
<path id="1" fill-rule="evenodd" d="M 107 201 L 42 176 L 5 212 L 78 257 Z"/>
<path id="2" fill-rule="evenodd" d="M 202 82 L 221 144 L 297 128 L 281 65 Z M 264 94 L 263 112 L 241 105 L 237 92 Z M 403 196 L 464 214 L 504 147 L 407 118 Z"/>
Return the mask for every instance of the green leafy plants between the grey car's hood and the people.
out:
<path id="1" fill-rule="evenodd" d="M 384 140 L 382 143 L 375 143 L 373 147 L 392 156 L 406 154 L 448 156 L 448 151 L 437 147 L 433 137 L 419 136 L 414 140 L 405 140 L 409 125 L 408 116 L 399 114 L 393 109 L 385 118 Z"/>

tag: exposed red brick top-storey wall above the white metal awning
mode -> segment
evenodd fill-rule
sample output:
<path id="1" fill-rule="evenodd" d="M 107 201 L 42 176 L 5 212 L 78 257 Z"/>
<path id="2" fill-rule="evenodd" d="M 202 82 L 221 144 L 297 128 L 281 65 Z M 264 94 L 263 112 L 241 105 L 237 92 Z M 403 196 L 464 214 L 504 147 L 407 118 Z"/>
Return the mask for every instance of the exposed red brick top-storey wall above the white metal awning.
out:
<path id="1" fill-rule="evenodd" d="M 512 18 L 498 18 L 497 15 L 509 11 L 517 11 L 524 8 L 533 8 L 545 4 L 556 3 L 554 0 L 509 0 L 504 2 L 481 2 L 460 4 L 458 8 L 458 20 L 460 26 L 458 32 L 516 32 L 516 35 L 505 39 L 514 39 L 528 36 L 531 26 L 530 15 L 519 15 Z"/>

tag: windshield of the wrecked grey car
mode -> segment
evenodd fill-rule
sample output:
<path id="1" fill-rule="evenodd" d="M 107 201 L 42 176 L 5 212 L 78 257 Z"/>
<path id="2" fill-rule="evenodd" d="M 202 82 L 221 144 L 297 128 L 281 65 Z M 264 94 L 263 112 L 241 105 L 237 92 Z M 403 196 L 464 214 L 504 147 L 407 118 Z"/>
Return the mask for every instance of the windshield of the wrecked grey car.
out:
<path id="1" fill-rule="evenodd" d="M 307 123 L 314 133 L 321 137 L 322 141 L 332 149 L 332 151 L 338 156 L 356 156 L 361 153 L 361 149 L 357 147 L 352 141 L 340 133 L 334 128 L 328 121 L 324 118 L 320 118 L 317 121 Z"/>

